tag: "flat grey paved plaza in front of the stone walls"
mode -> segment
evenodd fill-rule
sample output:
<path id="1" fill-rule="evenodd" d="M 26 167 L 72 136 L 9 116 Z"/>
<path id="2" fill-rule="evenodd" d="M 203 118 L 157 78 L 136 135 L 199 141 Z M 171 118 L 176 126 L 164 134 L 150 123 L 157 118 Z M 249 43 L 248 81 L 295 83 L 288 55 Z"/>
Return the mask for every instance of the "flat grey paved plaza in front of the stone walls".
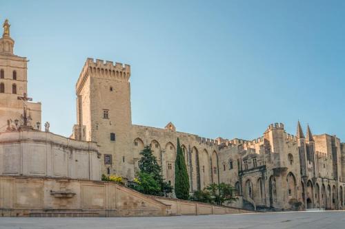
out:
<path id="1" fill-rule="evenodd" d="M 345 211 L 130 218 L 0 218 L 11 229 L 345 228 Z"/>

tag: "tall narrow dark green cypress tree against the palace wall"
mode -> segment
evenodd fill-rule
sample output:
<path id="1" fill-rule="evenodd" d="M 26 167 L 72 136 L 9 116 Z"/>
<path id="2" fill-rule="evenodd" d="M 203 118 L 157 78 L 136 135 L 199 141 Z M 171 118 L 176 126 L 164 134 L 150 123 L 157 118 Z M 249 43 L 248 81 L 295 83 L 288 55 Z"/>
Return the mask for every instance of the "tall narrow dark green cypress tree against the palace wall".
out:
<path id="1" fill-rule="evenodd" d="M 179 138 L 177 138 L 177 153 L 175 160 L 175 195 L 179 199 L 188 199 L 189 197 L 189 178 L 186 162 L 184 160 L 184 153 L 182 153 L 179 144 Z"/>

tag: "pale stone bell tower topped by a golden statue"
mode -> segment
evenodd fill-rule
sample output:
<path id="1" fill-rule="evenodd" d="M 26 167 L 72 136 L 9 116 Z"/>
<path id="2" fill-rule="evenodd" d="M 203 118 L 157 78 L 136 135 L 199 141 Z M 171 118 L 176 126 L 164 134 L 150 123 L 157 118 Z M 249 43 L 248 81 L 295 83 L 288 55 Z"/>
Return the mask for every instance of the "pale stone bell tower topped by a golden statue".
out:
<path id="1" fill-rule="evenodd" d="M 0 132 L 17 129 L 24 122 L 40 129 L 41 103 L 29 102 L 28 98 L 28 61 L 26 57 L 14 55 L 13 47 L 10 23 L 6 19 L 0 38 Z"/>

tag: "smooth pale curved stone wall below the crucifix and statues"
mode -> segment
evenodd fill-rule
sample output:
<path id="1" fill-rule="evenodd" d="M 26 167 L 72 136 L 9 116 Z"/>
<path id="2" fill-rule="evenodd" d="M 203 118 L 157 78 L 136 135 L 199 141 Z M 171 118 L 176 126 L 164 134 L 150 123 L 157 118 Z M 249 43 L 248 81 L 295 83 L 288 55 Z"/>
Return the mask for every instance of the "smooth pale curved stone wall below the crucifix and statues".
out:
<path id="1" fill-rule="evenodd" d="M 0 133 L 0 175 L 100 180 L 100 169 L 95 142 L 41 131 Z"/>

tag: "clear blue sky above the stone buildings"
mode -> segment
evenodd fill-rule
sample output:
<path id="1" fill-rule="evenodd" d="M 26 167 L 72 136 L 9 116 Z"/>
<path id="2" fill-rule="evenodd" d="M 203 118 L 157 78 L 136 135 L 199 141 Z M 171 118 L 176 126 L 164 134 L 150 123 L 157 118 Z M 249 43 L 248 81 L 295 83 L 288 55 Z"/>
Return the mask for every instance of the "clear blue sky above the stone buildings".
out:
<path id="1" fill-rule="evenodd" d="M 87 57 L 131 65 L 132 123 L 345 140 L 345 1 L 0 1 L 43 122 L 70 135 Z"/>

